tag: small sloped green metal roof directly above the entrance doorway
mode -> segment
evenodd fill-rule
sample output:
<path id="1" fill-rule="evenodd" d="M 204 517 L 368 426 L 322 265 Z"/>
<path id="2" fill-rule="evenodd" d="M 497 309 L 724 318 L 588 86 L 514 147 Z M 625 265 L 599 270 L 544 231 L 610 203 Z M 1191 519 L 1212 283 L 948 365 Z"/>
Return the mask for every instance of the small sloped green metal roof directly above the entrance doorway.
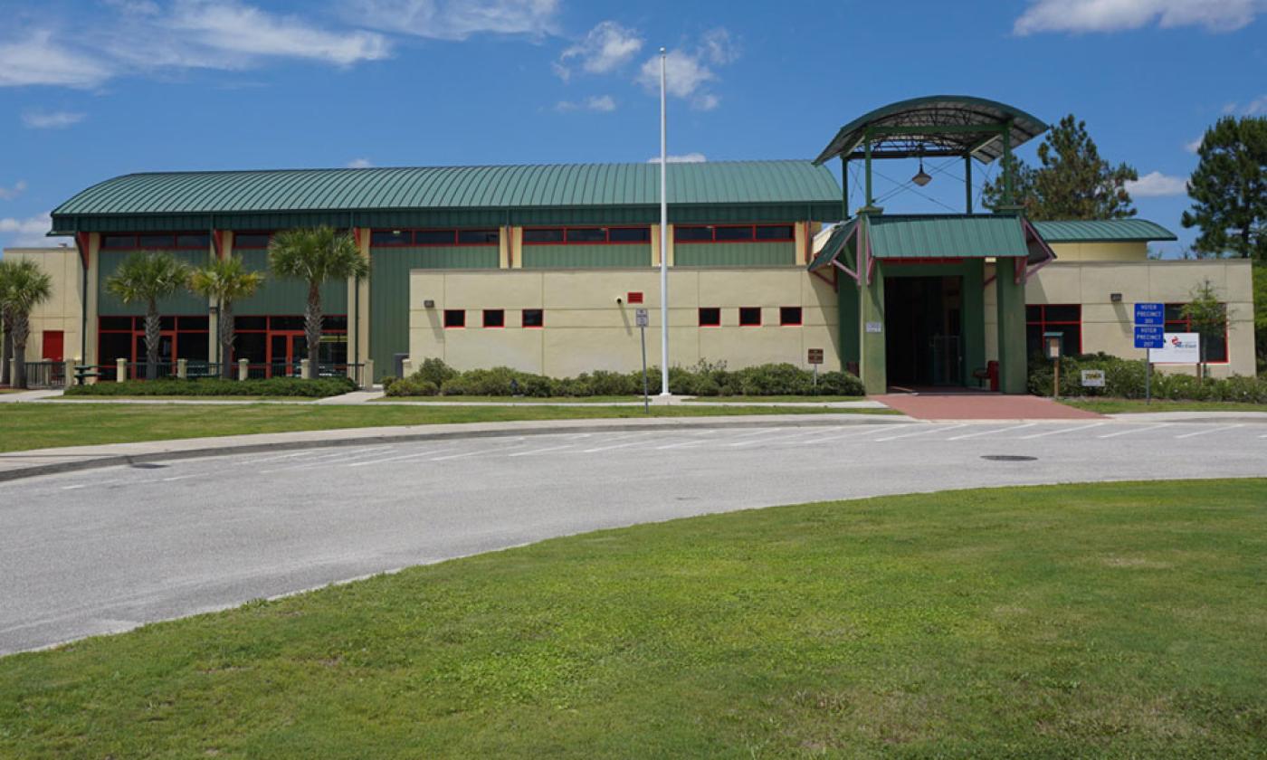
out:
<path id="1" fill-rule="evenodd" d="M 1019 217 L 1005 214 L 870 217 L 872 255 L 877 258 L 1029 257 Z"/>

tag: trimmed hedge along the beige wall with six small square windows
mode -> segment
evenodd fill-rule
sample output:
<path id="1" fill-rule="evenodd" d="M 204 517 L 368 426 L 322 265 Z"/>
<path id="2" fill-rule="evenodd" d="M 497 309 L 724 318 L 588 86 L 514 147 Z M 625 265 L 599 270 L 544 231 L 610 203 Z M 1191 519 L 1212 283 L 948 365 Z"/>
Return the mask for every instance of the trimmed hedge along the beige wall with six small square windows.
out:
<path id="1" fill-rule="evenodd" d="M 659 367 L 649 367 L 653 390 Z M 438 358 L 428 358 L 408 377 L 384 377 L 389 396 L 481 395 L 533 398 L 634 396 L 642 393 L 642 372 L 595 370 L 575 377 L 546 377 L 511 367 L 459 372 Z M 669 391 L 677 395 L 865 395 L 862 381 L 846 372 L 813 374 L 789 364 L 770 364 L 730 371 L 725 364 L 699 362 L 692 369 L 669 369 Z"/>

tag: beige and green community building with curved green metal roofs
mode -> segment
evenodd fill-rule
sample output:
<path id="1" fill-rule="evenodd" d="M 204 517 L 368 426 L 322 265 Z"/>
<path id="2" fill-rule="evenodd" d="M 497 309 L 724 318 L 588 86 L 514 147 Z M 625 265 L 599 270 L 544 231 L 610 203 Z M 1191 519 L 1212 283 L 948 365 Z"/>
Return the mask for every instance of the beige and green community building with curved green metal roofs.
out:
<path id="1" fill-rule="evenodd" d="M 1044 333 L 1060 333 L 1064 353 L 1143 358 L 1133 304 L 1167 304 L 1167 329 L 1187 332 L 1182 304 L 1207 280 L 1229 318 L 1207 346 L 1213 372 L 1254 374 L 1249 262 L 1149 260 L 1149 242 L 1175 236 L 1142 219 L 1030 222 L 1006 198 L 973 209 L 973 166 L 1047 128 L 978 98 L 896 103 L 843 127 L 812 161 L 669 165 L 664 228 L 655 163 L 134 174 L 53 210 L 52 234 L 67 244 L 5 256 L 54 276 L 56 298 L 33 315 L 32 360 L 143 361 L 143 305 L 105 288 L 136 251 L 266 270 L 270 236 L 327 224 L 355 237 L 370 275 L 326 285 L 322 361 L 372 361 L 375 379 L 426 357 L 551 376 L 634 370 L 636 309 L 649 310 L 659 355 L 661 237 L 674 365 L 807 366 L 821 350 L 824 370 L 854 371 L 872 393 L 987 375 L 1024 393 Z M 874 162 L 955 157 L 962 213 L 877 205 Z M 862 198 L 849 196 L 850 165 Z M 269 279 L 234 304 L 232 358 L 296 366 L 304 303 L 300 282 Z M 220 358 L 215 304 L 182 294 L 161 312 L 163 361 Z"/>

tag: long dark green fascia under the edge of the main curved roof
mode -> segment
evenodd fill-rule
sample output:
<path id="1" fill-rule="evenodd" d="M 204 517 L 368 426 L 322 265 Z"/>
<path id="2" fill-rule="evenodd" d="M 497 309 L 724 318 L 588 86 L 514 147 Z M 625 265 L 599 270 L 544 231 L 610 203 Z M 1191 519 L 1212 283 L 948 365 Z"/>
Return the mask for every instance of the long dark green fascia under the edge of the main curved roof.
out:
<path id="1" fill-rule="evenodd" d="M 840 191 L 831 201 L 788 204 L 694 204 L 669 206 L 670 224 L 726 222 L 839 222 Z M 75 232 L 172 232 L 195 229 L 498 227 L 551 224 L 658 224 L 659 205 L 554 209 L 398 209 L 253 214 L 123 214 L 53 217 L 53 234 Z"/>

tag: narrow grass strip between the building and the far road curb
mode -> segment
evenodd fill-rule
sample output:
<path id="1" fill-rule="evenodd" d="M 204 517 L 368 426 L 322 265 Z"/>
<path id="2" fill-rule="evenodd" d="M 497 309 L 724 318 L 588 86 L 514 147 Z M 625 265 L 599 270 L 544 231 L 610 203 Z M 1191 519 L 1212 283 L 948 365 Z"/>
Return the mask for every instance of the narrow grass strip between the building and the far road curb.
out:
<path id="1" fill-rule="evenodd" d="M 194 400 L 194 399 L 191 399 Z M 398 424 L 507 422 L 513 419 L 598 419 L 646 417 L 717 417 L 867 412 L 822 407 L 459 407 L 386 404 L 319 407 L 312 404 L 0 404 L 0 452 L 163 441 L 204 436 L 276 433 Z M 887 412 L 882 409 L 879 412 Z"/>

